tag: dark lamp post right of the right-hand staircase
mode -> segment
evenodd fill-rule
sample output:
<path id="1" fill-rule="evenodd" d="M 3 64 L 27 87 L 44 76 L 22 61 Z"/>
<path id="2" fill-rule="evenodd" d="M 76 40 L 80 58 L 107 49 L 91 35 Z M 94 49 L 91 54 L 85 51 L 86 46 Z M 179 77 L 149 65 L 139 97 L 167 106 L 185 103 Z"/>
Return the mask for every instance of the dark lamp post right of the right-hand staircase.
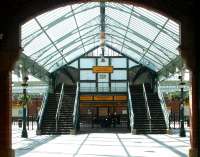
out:
<path id="1" fill-rule="evenodd" d="M 184 128 L 184 103 L 183 103 L 183 89 L 185 83 L 183 82 L 182 76 L 179 76 L 180 79 L 180 84 L 179 88 L 181 89 L 181 102 L 180 102 L 180 122 L 181 122 L 181 127 L 180 127 L 180 137 L 185 137 L 185 128 Z"/>

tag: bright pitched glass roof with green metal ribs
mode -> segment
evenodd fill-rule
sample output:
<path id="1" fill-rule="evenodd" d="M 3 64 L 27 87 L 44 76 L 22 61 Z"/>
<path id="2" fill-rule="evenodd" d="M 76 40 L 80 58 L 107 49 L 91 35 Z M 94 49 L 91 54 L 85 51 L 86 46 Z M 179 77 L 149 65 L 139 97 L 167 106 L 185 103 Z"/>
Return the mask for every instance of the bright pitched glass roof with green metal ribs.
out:
<path id="1" fill-rule="evenodd" d="M 141 7 L 111 2 L 65 6 L 33 18 L 21 27 L 23 53 L 53 72 L 98 48 L 102 28 L 105 46 L 154 71 L 179 55 L 177 23 Z"/>

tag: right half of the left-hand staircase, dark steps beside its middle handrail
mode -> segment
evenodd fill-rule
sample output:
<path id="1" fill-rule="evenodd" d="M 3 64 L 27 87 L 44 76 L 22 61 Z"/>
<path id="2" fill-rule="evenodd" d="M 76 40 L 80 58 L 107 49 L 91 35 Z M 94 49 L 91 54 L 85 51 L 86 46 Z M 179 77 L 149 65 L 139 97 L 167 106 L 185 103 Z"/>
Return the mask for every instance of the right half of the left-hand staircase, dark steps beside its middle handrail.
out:
<path id="1" fill-rule="evenodd" d="M 58 121 L 58 134 L 69 134 L 73 126 L 73 109 L 75 101 L 75 86 L 65 86 L 60 117 Z M 59 94 L 57 98 L 59 99 Z"/>

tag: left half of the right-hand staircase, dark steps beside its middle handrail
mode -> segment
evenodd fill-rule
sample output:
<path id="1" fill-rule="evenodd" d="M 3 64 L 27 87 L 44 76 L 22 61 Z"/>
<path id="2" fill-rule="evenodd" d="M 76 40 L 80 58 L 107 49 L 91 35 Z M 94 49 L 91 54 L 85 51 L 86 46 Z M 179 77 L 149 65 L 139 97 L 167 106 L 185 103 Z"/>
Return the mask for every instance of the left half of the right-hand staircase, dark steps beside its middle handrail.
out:
<path id="1" fill-rule="evenodd" d="M 143 96 L 142 85 L 130 87 L 133 112 L 134 112 L 134 129 L 136 134 L 147 134 L 149 130 L 149 120 Z"/>

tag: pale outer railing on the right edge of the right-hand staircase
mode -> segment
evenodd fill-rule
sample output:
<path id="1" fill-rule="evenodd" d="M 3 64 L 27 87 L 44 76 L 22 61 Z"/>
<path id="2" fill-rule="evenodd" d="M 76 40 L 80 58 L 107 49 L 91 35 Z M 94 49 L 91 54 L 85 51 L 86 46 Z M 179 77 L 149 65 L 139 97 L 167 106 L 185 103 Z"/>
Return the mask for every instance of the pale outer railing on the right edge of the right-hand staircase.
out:
<path id="1" fill-rule="evenodd" d="M 160 86 L 160 84 L 158 82 L 158 97 L 159 97 L 161 108 L 162 108 L 162 112 L 163 112 L 163 115 L 164 115 L 164 118 L 165 118 L 166 127 L 169 129 L 169 113 L 167 111 L 165 99 L 164 99 L 163 93 L 161 92 L 160 87 L 161 86 Z"/>

